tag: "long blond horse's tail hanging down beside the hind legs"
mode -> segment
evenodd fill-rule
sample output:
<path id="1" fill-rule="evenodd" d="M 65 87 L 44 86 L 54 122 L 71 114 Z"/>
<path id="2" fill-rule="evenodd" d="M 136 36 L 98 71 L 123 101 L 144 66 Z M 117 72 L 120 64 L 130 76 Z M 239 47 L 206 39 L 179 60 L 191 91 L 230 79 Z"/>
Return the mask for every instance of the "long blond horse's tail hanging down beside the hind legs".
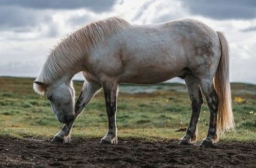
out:
<path id="1" fill-rule="evenodd" d="M 231 90 L 229 82 L 228 43 L 221 32 L 217 32 L 221 44 L 221 58 L 214 77 L 214 87 L 219 97 L 218 131 L 224 132 L 234 129 L 234 119 L 231 106 Z"/>

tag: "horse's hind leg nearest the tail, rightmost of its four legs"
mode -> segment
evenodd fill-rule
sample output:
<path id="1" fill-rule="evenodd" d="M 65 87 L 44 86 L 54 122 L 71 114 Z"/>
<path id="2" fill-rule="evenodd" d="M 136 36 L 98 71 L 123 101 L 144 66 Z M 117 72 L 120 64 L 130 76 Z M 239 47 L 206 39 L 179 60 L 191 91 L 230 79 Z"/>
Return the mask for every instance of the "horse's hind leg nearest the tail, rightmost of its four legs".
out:
<path id="1" fill-rule="evenodd" d="M 214 89 L 213 81 L 211 79 L 204 79 L 200 81 L 200 86 L 207 100 L 210 110 L 210 122 L 207 136 L 204 138 L 200 146 L 210 147 L 213 143 L 218 142 L 217 134 L 217 114 L 218 114 L 218 95 Z"/>

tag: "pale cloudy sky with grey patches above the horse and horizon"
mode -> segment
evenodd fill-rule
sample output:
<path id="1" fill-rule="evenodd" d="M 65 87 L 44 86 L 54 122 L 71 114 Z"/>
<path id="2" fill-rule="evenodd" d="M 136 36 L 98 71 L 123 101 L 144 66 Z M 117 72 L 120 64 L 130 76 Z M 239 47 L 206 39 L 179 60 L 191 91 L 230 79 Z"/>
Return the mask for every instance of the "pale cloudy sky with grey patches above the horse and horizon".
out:
<path id="1" fill-rule="evenodd" d="M 61 38 L 110 16 L 136 24 L 201 20 L 227 37 L 231 81 L 256 84 L 255 0 L 0 0 L 0 75 L 37 76 Z"/>

